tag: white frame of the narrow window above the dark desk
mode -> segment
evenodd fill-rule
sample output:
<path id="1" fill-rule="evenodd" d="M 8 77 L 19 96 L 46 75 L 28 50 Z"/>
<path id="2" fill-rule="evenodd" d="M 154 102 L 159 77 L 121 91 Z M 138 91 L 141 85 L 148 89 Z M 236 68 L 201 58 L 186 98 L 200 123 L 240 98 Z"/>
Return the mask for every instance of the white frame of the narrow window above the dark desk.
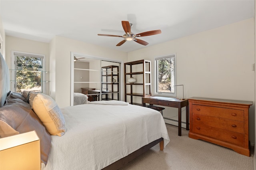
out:
<path id="1" fill-rule="evenodd" d="M 161 93 L 158 92 L 158 65 L 157 65 L 157 60 L 159 59 L 166 59 L 166 58 L 170 58 L 170 57 L 174 57 L 174 93 Z M 154 95 L 159 95 L 159 96 L 167 96 L 167 97 L 176 97 L 176 75 L 177 75 L 177 71 L 176 71 L 176 53 L 172 53 L 170 55 L 164 55 L 164 56 L 160 56 L 160 57 L 155 57 L 154 58 L 154 90 L 153 90 L 153 94 Z"/>

